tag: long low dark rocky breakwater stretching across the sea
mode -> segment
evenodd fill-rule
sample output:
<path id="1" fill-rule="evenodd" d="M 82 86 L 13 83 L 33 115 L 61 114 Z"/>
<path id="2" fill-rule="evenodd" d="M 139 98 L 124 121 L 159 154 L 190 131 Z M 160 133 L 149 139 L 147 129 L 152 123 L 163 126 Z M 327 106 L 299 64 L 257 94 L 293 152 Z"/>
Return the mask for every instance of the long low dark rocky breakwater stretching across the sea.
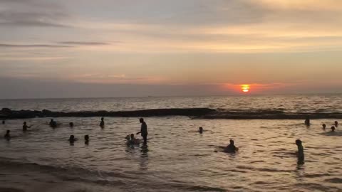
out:
<path id="1" fill-rule="evenodd" d="M 12 111 L 4 108 L 0 111 L 2 118 L 24 119 L 33 117 L 165 117 L 187 116 L 192 119 L 342 119 L 341 112 L 284 112 L 275 110 L 223 110 L 210 108 L 170 108 L 134 111 L 83 111 L 83 112 L 52 112 L 49 110 Z"/>

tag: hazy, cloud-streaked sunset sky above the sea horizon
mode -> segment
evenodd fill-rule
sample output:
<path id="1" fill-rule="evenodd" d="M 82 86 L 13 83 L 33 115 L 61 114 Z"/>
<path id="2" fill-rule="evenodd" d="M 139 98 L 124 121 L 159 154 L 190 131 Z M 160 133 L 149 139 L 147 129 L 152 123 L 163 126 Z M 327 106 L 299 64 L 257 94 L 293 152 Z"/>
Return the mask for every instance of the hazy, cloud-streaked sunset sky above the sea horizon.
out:
<path id="1" fill-rule="evenodd" d="M 342 92 L 341 0 L 0 0 L 0 31 L 2 99 Z"/>

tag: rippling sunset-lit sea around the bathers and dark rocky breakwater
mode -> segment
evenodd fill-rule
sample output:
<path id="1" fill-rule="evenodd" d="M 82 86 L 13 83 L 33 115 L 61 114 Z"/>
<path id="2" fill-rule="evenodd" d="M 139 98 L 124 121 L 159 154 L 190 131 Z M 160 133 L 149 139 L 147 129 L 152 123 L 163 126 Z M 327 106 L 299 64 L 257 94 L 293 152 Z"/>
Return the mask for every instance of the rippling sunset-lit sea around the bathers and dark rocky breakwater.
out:
<path id="1" fill-rule="evenodd" d="M 11 110 L 126 111 L 207 107 L 214 110 L 341 113 L 342 95 L 122 97 L 0 100 Z M 146 117 L 147 148 L 125 144 L 137 117 L 6 119 L 0 140 L 0 191 L 342 191 L 342 119 L 201 119 Z M 22 132 L 26 121 L 27 132 Z M 73 122 L 74 127 L 68 123 Z M 323 130 L 321 124 L 327 124 Z M 197 132 L 203 127 L 203 134 Z M 73 134 L 78 141 L 68 142 Z M 83 136 L 90 136 L 85 144 Z M 140 139 L 140 136 L 137 136 Z M 234 139 L 239 151 L 221 146 Z M 296 139 L 305 164 L 297 164 Z"/>

